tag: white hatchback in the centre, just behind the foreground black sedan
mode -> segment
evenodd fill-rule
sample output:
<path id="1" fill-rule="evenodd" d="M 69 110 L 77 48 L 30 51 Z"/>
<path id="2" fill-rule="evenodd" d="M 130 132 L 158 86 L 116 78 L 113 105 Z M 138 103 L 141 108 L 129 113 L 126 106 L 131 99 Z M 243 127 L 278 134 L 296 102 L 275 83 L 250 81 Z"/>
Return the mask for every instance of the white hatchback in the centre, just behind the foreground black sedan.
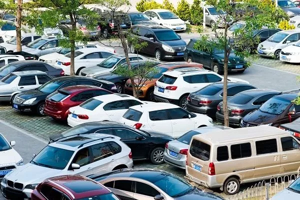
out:
<path id="1" fill-rule="evenodd" d="M 213 125 L 209 116 L 191 113 L 170 103 L 132 106 L 120 118 L 120 122 L 136 129 L 164 132 L 174 138 L 194 128 Z"/>

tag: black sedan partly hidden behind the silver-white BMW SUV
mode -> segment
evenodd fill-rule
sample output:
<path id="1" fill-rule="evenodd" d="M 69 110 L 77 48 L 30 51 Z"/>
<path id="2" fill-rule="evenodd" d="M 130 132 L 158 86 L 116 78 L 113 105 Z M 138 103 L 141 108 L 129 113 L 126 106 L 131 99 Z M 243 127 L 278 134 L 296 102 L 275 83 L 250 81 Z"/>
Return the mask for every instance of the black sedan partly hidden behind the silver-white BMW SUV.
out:
<path id="1" fill-rule="evenodd" d="M 82 123 L 59 134 L 51 135 L 49 143 L 67 136 L 86 133 L 105 133 L 118 136 L 131 148 L 133 159 L 149 159 L 153 164 L 163 163 L 164 145 L 173 140 L 172 137 L 161 132 L 137 130 L 115 121 L 97 121 Z"/>

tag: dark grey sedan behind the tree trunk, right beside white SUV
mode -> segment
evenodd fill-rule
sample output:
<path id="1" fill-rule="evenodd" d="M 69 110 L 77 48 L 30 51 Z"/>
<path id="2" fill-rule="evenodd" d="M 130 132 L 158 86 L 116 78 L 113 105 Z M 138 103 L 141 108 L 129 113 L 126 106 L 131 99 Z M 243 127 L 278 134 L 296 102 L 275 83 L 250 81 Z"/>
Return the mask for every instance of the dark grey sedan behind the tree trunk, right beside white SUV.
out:
<path id="1" fill-rule="evenodd" d="M 227 96 L 230 97 L 241 91 L 254 88 L 256 87 L 248 83 L 228 81 Z M 223 82 L 211 83 L 188 95 L 186 109 L 215 117 L 216 107 L 222 100 Z"/>

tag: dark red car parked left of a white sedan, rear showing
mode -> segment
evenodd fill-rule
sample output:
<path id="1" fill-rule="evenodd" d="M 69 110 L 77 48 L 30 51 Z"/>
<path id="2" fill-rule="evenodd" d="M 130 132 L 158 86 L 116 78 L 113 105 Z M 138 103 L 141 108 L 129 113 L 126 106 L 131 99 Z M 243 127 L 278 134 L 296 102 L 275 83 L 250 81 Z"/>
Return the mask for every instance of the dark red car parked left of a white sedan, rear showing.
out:
<path id="1" fill-rule="evenodd" d="M 111 93 L 111 91 L 91 85 L 64 87 L 46 97 L 43 111 L 46 115 L 56 120 L 66 120 L 67 110 L 70 107 L 79 105 L 91 97 Z"/>

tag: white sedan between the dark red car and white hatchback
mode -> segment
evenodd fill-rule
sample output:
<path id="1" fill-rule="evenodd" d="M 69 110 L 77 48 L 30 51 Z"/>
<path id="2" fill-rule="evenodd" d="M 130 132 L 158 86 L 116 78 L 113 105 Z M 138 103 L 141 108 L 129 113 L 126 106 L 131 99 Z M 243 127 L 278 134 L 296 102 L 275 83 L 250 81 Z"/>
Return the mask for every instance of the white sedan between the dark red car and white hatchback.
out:
<path id="1" fill-rule="evenodd" d="M 92 97 L 69 108 L 67 124 L 75 126 L 91 121 L 119 121 L 130 106 L 147 102 L 126 94 L 105 94 Z"/>

